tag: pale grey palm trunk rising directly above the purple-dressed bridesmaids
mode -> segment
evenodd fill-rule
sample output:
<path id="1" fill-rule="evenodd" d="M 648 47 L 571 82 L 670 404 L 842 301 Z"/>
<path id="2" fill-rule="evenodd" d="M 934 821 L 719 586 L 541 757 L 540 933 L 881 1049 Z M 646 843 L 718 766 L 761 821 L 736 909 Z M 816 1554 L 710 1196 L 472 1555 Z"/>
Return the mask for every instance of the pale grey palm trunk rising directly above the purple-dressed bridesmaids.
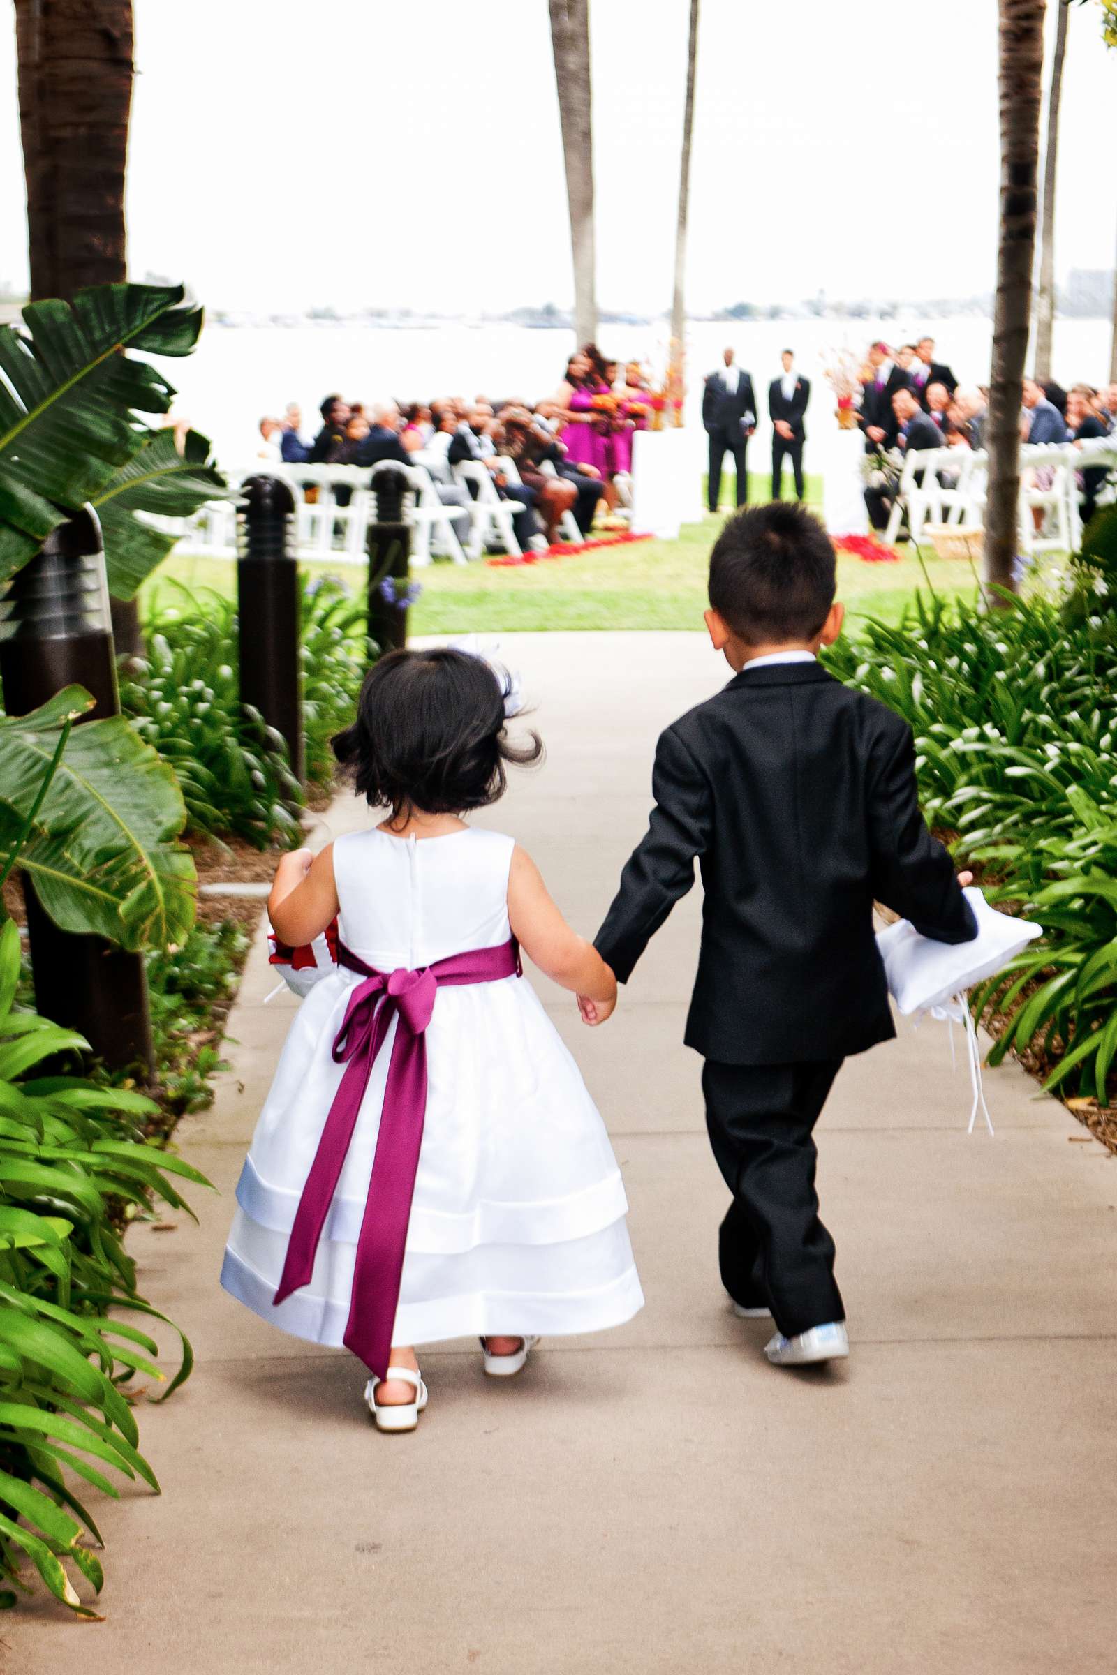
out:
<path id="1" fill-rule="evenodd" d="M 563 124 L 569 243 L 574 258 L 574 337 L 598 335 L 593 241 L 593 121 L 589 102 L 589 0 L 549 0 L 554 85 Z"/>

